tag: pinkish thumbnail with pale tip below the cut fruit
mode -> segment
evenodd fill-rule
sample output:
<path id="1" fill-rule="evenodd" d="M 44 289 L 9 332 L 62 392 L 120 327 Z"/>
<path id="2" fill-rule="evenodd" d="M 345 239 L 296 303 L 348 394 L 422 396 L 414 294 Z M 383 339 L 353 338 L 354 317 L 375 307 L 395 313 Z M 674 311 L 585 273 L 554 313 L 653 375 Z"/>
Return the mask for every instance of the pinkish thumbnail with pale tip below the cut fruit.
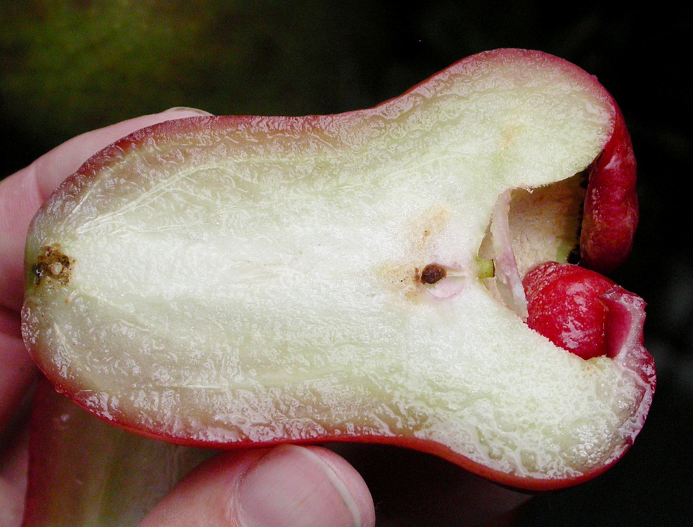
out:
<path id="1" fill-rule="evenodd" d="M 244 527 L 361 526 L 357 501 L 311 449 L 282 445 L 260 458 L 238 488 Z"/>

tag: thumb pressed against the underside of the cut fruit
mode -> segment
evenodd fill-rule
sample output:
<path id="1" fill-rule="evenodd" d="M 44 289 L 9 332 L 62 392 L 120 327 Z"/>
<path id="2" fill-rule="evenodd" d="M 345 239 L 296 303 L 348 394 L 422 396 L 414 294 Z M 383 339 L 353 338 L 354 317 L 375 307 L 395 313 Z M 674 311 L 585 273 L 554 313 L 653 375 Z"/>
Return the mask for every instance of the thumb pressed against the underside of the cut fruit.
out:
<path id="1" fill-rule="evenodd" d="M 202 463 L 139 527 L 372 527 L 356 470 L 321 447 L 225 452 Z"/>

